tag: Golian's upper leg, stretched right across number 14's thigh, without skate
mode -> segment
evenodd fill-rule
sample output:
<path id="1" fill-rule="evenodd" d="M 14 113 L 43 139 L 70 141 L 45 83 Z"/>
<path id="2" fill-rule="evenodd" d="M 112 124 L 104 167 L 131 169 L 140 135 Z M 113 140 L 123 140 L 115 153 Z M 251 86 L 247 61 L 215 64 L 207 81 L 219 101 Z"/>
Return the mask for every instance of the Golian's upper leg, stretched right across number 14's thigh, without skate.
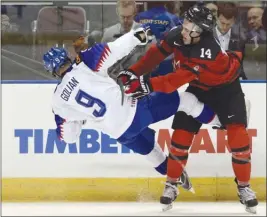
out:
<path id="1" fill-rule="evenodd" d="M 177 111 L 184 111 L 201 123 L 220 125 L 217 115 L 193 94 L 154 92 L 138 100 L 134 119 L 124 135 L 133 138 L 150 124 L 165 120 Z"/>

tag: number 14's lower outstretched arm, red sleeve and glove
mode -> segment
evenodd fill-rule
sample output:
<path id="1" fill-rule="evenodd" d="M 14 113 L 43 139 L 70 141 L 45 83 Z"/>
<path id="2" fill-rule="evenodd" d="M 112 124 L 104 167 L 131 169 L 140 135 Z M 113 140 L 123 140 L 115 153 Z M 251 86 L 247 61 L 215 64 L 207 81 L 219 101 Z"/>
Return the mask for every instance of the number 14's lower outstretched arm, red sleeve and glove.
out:
<path id="1" fill-rule="evenodd" d="M 127 86 L 126 94 L 132 94 L 133 97 L 142 97 L 152 91 L 171 93 L 184 84 L 193 80 L 209 80 L 212 84 L 221 83 L 221 79 L 229 79 L 228 76 L 230 57 L 224 52 L 216 55 L 212 60 L 202 61 L 203 64 L 194 63 L 194 61 L 182 64 L 180 68 L 173 73 L 154 78 L 140 76 L 139 79 L 133 79 Z M 213 72 L 210 70 L 213 69 Z M 205 72 L 210 73 L 205 73 Z M 205 78 L 203 76 L 208 76 Z M 221 76 L 221 79 L 218 78 Z M 216 83 L 217 82 L 217 83 Z"/>

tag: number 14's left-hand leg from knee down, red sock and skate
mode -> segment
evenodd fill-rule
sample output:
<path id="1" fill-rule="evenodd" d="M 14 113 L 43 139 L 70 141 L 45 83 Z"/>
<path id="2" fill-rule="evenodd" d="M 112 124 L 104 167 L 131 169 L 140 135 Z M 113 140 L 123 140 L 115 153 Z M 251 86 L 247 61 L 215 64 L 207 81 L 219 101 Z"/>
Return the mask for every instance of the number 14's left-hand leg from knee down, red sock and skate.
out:
<path id="1" fill-rule="evenodd" d="M 201 123 L 184 112 L 178 112 L 173 120 L 174 132 L 171 138 L 171 147 L 168 156 L 167 182 L 160 203 L 163 210 L 170 209 L 172 202 L 179 194 L 178 182 L 187 164 L 188 150 L 190 149 L 194 135 L 199 131 Z"/>

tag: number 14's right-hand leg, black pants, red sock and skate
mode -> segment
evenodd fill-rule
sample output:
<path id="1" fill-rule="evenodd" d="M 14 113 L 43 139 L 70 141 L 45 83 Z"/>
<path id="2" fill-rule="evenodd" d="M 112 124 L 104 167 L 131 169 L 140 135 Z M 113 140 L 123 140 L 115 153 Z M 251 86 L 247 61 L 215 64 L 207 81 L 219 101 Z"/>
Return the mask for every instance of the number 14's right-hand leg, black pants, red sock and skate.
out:
<path id="1" fill-rule="evenodd" d="M 236 176 L 240 202 L 248 212 L 255 213 L 258 201 L 250 188 L 251 148 L 247 127 L 247 111 L 244 94 L 239 81 L 227 86 L 227 97 L 223 97 L 218 105 L 220 119 L 225 125 L 228 144 L 232 152 L 232 167 Z M 226 92 L 222 88 L 221 92 Z"/>

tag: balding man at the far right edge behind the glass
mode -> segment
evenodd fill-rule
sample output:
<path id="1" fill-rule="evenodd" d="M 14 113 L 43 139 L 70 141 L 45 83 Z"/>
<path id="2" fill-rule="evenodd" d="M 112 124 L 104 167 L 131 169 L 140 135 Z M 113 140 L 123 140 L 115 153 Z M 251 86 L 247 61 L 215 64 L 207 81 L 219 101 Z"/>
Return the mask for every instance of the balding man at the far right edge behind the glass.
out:
<path id="1" fill-rule="evenodd" d="M 249 31 L 247 32 L 248 43 L 265 44 L 266 31 L 262 25 L 262 8 L 250 8 L 247 13 Z"/>

